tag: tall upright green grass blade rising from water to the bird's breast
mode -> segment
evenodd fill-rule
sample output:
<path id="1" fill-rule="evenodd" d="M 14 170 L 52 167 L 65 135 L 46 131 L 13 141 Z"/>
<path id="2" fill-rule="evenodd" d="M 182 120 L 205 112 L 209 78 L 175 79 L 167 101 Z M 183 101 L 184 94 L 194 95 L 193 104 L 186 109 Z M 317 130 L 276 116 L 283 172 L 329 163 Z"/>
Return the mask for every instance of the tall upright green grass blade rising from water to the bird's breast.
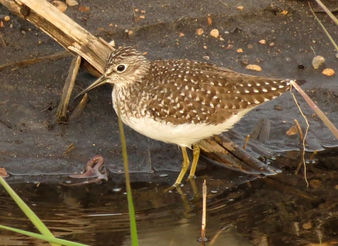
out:
<path id="1" fill-rule="evenodd" d="M 132 202 L 132 188 L 130 188 L 127 145 L 125 143 L 125 131 L 123 130 L 123 123 L 120 117 L 120 105 L 118 105 L 118 127 L 120 128 L 123 162 L 125 164 L 125 186 L 127 187 L 127 200 L 128 200 L 128 211 L 129 211 L 129 219 L 130 219 L 130 234 L 132 238 L 132 246 L 138 246 L 139 242 L 137 240 L 135 211 L 134 211 L 134 204 Z"/>

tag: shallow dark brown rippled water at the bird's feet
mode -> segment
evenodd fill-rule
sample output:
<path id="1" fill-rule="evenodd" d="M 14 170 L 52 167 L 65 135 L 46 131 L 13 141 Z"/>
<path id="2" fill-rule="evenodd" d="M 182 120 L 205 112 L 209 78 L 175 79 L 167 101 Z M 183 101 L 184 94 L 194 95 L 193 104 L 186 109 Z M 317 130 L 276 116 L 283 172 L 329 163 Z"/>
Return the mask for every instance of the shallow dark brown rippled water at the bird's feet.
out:
<path id="1" fill-rule="evenodd" d="M 206 237 L 215 245 L 310 245 L 337 242 L 337 151 L 320 153 L 315 164 L 294 174 L 295 164 L 279 157 L 276 176 L 255 179 L 237 171 L 208 165 L 199 170 L 199 192 L 208 187 Z M 176 173 L 175 173 L 176 174 Z M 122 174 L 120 174 L 122 175 Z M 58 238 L 88 245 L 130 245 L 124 183 L 114 177 L 101 184 L 67 187 L 59 183 L 11 183 L 27 205 Z M 139 245 L 200 245 L 201 195 L 192 184 L 163 193 L 169 183 L 132 183 Z M 1 224 L 37 232 L 1 188 Z M 209 241 L 210 242 L 210 241 Z M 0 245 L 44 245 L 1 231 Z M 207 244 L 208 245 L 208 244 Z"/>

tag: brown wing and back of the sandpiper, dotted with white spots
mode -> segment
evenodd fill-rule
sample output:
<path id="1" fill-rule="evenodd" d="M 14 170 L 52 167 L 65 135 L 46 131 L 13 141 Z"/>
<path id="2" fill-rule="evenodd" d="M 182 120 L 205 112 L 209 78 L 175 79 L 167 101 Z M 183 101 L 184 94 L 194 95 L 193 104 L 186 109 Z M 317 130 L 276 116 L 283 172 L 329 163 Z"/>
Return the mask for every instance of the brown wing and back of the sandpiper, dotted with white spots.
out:
<path id="1" fill-rule="evenodd" d="M 170 70 L 168 70 L 170 67 Z M 163 60 L 151 64 L 147 114 L 173 124 L 220 124 L 241 110 L 286 92 L 287 79 L 243 75 L 208 63 Z"/>

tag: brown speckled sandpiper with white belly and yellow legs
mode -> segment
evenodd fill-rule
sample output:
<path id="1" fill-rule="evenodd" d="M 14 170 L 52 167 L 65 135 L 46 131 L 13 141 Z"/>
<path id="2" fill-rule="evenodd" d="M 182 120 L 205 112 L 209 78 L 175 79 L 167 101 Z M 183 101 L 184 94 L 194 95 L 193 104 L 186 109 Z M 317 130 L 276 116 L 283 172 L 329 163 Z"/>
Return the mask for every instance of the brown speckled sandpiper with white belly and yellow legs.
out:
<path id="1" fill-rule="evenodd" d="M 104 75 L 84 89 L 113 85 L 113 108 L 140 134 L 180 145 L 183 164 L 173 188 L 194 159 L 194 178 L 201 139 L 231 129 L 247 112 L 290 89 L 290 79 L 244 75 L 192 60 L 148 60 L 131 47 L 119 48 L 107 60 Z"/>

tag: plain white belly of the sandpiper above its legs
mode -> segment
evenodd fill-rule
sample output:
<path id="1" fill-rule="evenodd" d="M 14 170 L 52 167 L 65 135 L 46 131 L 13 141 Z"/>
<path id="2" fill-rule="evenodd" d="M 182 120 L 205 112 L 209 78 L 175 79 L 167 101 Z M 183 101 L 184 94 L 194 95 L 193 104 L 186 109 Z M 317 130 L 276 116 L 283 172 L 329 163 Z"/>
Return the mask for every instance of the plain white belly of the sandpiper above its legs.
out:
<path id="1" fill-rule="evenodd" d="M 220 134 L 223 131 L 231 129 L 252 108 L 240 112 L 238 115 L 232 115 L 229 119 L 221 124 L 180 124 L 157 122 L 152 118 L 137 119 L 129 117 L 123 119 L 127 126 L 135 131 L 154 138 L 165 143 L 175 143 L 177 145 L 190 148 L 193 143 L 197 143 L 204 138 Z"/>

